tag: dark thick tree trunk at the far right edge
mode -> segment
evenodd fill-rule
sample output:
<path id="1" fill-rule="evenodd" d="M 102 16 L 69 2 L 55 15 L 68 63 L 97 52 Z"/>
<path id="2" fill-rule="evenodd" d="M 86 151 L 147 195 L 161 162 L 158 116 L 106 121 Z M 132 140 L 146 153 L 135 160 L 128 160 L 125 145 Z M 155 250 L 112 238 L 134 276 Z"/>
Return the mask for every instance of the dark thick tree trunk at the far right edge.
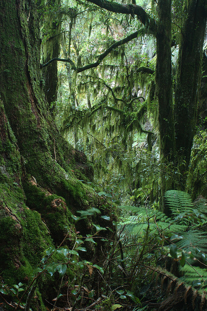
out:
<path id="1" fill-rule="evenodd" d="M 186 185 L 195 133 L 206 23 L 207 1 L 188 1 L 179 44 L 175 90 L 175 136 L 181 190 Z"/>

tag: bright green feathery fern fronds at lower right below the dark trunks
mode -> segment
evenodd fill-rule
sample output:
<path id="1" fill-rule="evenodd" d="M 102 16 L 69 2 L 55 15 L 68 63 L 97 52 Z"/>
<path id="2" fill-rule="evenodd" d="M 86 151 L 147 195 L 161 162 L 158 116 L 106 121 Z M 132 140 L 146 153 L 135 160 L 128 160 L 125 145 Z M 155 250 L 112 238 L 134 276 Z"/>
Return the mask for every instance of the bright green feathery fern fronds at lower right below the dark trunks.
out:
<path id="1" fill-rule="evenodd" d="M 202 198 L 193 204 L 188 193 L 177 190 L 167 191 L 164 199 L 172 211 L 171 217 L 154 208 L 121 207 L 122 211 L 125 210 L 125 217 L 118 229 L 124 225 L 124 230 L 121 230 L 123 242 L 135 239 L 142 243 L 142 239 L 146 241 L 150 237 L 149 241 L 162 246 L 171 240 L 179 250 L 175 260 L 180 262 L 182 254 L 186 259 L 184 267 L 180 267 L 182 280 L 204 288 L 207 281 L 207 269 L 203 269 L 207 265 L 206 200 Z"/>

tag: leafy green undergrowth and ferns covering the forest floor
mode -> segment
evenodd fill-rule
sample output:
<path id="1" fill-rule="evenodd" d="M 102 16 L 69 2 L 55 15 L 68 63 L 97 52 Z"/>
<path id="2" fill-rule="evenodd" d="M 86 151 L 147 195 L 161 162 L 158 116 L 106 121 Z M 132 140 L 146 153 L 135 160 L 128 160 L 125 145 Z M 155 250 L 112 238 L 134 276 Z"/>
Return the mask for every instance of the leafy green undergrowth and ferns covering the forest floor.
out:
<path id="1" fill-rule="evenodd" d="M 145 296 L 153 282 L 149 271 L 175 281 L 168 271 L 174 274 L 180 284 L 186 284 L 186 296 L 190 294 L 189 286 L 204 293 L 207 288 L 207 201 L 204 198 L 192 203 L 185 192 L 167 191 L 164 199 L 171 212 L 169 217 L 147 201 L 140 207 L 119 207 L 121 212 L 118 212 L 113 193 L 102 191 L 98 195 L 102 208 L 79 211 L 73 216 L 75 222 L 90 219 L 94 233 L 83 237 L 76 232 L 70 248 L 65 236 L 57 248 L 46 250 L 33 271 L 31 284 L 19 280 L 18 284 L 8 286 L 1 282 L 0 297 L 4 305 L 11 310 L 19 307 L 29 310 L 38 282 L 47 274 L 60 284 L 56 297 L 48 305 L 52 311 L 59 310 L 63 304 L 70 311 L 146 310 L 149 297 Z M 104 208 L 109 211 L 107 215 L 103 214 Z M 117 214 L 121 214 L 118 222 Z M 94 216 L 100 217 L 102 226 L 93 224 Z M 100 243 L 102 246 L 98 246 Z M 93 245 L 99 247 L 102 261 L 85 259 L 84 254 Z M 104 249 L 103 245 L 108 246 Z"/>

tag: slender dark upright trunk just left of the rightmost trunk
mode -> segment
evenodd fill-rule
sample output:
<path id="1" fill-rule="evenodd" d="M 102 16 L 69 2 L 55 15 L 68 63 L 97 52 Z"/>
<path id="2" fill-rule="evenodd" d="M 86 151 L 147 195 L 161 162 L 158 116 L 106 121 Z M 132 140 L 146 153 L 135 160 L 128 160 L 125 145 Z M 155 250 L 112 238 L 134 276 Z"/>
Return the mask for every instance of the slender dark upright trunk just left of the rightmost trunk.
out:
<path id="1" fill-rule="evenodd" d="M 159 103 L 159 148 L 162 162 L 161 197 L 173 188 L 174 178 L 166 178 L 166 165 L 175 161 L 175 128 L 171 67 L 171 0 L 158 1 L 156 93 Z M 168 168 L 169 169 L 169 168 Z M 160 205 L 164 209 L 163 202 Z M 164 210 L 165 211 L 165 210 Z"/>

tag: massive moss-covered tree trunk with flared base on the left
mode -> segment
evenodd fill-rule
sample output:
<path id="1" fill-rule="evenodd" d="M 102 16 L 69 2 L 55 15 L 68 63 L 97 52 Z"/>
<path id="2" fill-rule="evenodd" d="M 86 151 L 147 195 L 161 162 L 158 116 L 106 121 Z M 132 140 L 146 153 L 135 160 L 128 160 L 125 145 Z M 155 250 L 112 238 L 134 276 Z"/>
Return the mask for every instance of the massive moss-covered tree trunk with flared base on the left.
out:
<path id="1" fill-rule="evenodd" d="M 71 211 L 101 204 L 80 182 L 93 179 L 92 166 L 48 111 L 35 5 L 0 1 L 0 274 L 10 285 L 29 282 L 44 250 L 63 241 L 67 228 L 72 236 Z M 92 228 L 89 221 L 79 231 Z M 91 260 L 93 252 L 87 255 Z M 47 282 L 42 286 L 54 298 Z"/>

